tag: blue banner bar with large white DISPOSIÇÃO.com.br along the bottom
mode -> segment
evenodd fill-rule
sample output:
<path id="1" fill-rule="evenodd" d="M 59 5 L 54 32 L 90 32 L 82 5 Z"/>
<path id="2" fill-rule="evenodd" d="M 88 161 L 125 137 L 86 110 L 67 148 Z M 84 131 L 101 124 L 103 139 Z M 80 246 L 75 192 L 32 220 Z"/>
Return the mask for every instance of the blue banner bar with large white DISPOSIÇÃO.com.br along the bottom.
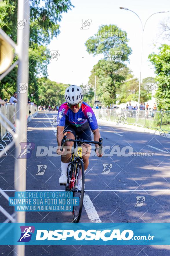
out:
<path id="1" fill-rule="evenodd" d="M 0 245 L 170 245 L 170 223 L 0 223 Z"/>

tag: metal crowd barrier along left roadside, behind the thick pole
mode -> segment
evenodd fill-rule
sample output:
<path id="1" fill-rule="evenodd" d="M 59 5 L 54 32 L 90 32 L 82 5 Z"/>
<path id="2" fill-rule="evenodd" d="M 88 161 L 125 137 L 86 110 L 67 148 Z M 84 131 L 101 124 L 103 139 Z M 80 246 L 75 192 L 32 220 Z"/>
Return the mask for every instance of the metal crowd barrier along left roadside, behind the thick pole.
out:
<path id="1" fill-rule="evenodd" d="M 17 116 L 17 104 L 4 104 L 0 105 L 0 157 L 2 151 L 7 155 L 8 142 L 11 143 L 15 131 L 15 119 Z M 27 122 L 35 117 L 38 113 L 37 106 L 28 105 L 27 107 Z"/>

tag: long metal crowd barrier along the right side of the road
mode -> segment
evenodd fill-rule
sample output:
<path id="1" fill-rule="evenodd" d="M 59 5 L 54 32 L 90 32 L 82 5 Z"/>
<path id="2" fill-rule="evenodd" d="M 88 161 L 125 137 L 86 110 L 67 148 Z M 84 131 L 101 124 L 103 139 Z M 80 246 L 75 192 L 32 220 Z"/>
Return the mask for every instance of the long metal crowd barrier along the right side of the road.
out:
<path id="1" fill-rule="evenodd" d="M 125 123 L 138 125 L 160 132 L 170 133 L 170 111 L 152 111 L 152 110 L 129 110 L 129 109 L 94 109 L 96 118 L 118 122 L 118 115 L 127 116 Z"/>

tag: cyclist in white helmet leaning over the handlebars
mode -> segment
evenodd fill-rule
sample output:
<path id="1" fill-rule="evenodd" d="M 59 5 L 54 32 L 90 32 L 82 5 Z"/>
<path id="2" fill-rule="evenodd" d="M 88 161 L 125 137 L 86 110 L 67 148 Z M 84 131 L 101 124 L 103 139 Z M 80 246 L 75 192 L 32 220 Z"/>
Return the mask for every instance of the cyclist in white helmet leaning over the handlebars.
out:
<path id="1" fill-rule="evenodd" d="M 94 134 L 94 141 L 98 141 L 100 138 L 100 132 L 96 116 L 92 108 L 85 102 L 83 102 L 83 91 L 80 86 L 71 85 L 65 90 L 65 100 L 58 111 L 57 115 L 57 143 L 58 154 L 63 154 L 65 148 L 61 152 L 61 140 L 64 135 L 67 138 L 75 139 L 78 135 L 78 139 L 91 141 L 91 130 Z M 71 150 L 74 142 L 66 142 L 67 152 L 61 156 L 61 176 L 59 178 L 60 184 L 67 183 L 67 167 L 71 158 Z M 101 157 L 103 154 L 99 154 L 99 148 L 96 144 L 96 154 Z M 84 163 L 84 170 L 87 170 L 89 165 L 89 155 L 91 152 L 91 144 L 85 143 L 82 145 L 82 158 Z"/>

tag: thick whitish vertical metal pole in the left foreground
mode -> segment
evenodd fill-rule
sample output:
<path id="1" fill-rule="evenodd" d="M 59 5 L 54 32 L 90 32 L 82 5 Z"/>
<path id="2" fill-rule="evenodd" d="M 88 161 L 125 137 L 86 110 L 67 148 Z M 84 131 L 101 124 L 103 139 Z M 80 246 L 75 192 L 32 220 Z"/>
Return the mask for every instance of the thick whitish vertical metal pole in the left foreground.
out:
<path id="1" fill-rule="evenodd" d="M 18 0 L 18 19 L 26 19 L 23 29 L 17 29 L 17 54 L 18 64 L 18 80 L 17 87 L 19 91 L 19 83 L 28 83 L 28 48 L 29 48 L 29 32 L 30 32 L 30 5 L 28 0 Z M 25 191 L 26 189 L 26 162 L 27 159 L 17 159 L 20 154 L 20 142 L 27 142 L 27 102 L 28 91 L 18 94 L 18 112 L 16 118 L 16 160 L 14 172 L 14 186 L 17 191 Z M 18 223 L 25 223 L 25 212 L 17 212 L 16 220 Z M 17 255 L 25 255 L 25 246 L 17 246 Z"/>

